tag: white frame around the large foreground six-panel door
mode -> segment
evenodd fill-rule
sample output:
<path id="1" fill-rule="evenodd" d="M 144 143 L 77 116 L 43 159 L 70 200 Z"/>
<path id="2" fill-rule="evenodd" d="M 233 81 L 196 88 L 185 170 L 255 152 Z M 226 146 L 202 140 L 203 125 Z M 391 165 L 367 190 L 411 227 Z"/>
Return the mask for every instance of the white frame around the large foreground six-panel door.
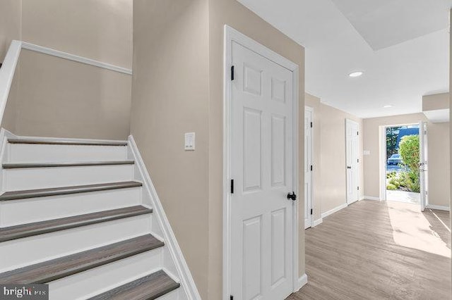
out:
<path id="1" fill-rule="evenodd" d="M 299 78 L 299 66 L 287 58 L 280 56 L 276 52 L 268 49 L 266 46 L 259 44 L 250 37 L 243 35 L 241 32 L 234 28 L 225 25 L 224 27 L 224 55 L 223 55 L 223 288 L 222 299 L 230 299 L 231 290 L 231 194 L 230 194 L 230 179 L 231 179 L 231 164 L 232 164 L 232 82 L 231 65 L 232 65 L 232 42 L 236 42 L 244 46 L 251 51 L 256 52 L 270 61 L 277 63 L 278 65 L 287 68 L 292 71 L 293 80 L 293 101 L 292 101 L 292 130 L 293 130 L 293 150 L 292 150 L 292 163 L 293 163 L 293 180 L 292 185 L 295 193 L 299 195 L 299 182 L 298 182 L 298 109 L 299 109 L 299 92 L 298 92 L 298 78 Z M 300 199 L 300 197 L 298 197 Z M 299 286 L 298 276 L 298 206 L 299 200 L 293 201 L 292 209 L 292 251 L 293 251 L 293 270 L 292 270 L 292 289 L 296 292 Z"/>

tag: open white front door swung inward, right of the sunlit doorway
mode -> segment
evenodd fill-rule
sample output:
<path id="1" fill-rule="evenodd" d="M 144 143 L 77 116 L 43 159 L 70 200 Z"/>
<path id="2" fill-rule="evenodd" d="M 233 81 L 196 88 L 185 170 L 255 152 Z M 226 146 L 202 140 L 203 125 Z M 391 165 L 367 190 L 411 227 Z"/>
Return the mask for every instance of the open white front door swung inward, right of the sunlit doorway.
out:
<path id="1" fill-rule="evenodd" d="M 428 168 L 427 163 L 427 123 L 420 122 L 419 124 L 419 150 L 420 150 L 420 163 L 419 163 L 419 183 L 420 183 L 420 206 L 421 211 L 424 211 L 425 206 L 428 203 Z"/>

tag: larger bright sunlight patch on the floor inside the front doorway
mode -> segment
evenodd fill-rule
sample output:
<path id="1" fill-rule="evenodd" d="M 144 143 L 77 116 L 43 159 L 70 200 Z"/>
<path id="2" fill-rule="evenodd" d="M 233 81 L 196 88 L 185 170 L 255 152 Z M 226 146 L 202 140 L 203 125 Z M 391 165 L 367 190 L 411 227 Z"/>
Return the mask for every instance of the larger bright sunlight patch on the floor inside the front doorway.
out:
<path id="1" fill-rule="evenodd" d="M 432 230 L 432 225 L 420 212 L 418 205 L 396 201 L 388 201 L 387 204 L 396 244 L 451 257 L 451 249 Z"/>

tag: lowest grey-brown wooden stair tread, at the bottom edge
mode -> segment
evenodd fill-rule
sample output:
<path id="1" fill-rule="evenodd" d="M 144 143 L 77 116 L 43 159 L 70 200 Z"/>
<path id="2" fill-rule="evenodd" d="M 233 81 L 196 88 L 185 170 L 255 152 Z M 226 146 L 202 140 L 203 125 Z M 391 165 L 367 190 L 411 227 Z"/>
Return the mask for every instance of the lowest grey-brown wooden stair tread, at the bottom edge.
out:
<path id="1" fill-rule="evenodd" d="M 94 296 L 90 300 L 151 300 L 157 299 L 174 289 L 180 284 L 172 280 L 163 270 L 141 277 L 132 282 Z"/>

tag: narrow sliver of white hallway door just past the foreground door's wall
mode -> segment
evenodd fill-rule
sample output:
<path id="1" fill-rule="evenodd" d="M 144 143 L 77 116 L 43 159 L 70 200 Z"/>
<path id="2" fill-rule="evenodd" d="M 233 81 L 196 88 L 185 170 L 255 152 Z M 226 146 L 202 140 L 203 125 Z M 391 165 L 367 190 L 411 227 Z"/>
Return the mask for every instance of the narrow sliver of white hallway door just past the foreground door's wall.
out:
<path id="1" fill-rule="evenodd" d="M 304 108 L 304 229 L 312 224 L 312 118 L 313 110 Z"/>

